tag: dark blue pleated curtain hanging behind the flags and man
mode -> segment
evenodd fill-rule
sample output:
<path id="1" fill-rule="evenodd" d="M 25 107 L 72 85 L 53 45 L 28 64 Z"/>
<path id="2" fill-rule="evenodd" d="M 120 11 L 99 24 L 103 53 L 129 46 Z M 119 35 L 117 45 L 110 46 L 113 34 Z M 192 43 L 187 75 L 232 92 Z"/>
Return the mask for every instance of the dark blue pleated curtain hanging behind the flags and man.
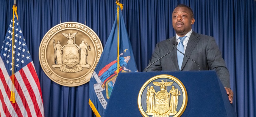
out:
<path id="1" fill-rule="evenodd" d="M 190 6 L 195 16 L 192 29 L 215 37 L 226 61 L 237 115 L 256 116 L 256 1 L 121 0 L 121 3 L 139 71 L 148 64 L 155 44 L 175 35 L 171 20 L 174 7 Z M 0 0 L 0 4 L 1 47 L 12 18 L 13 0 Z M 19 25 L 40 80 L 45 116 L 93 116 L 88 105 L 88 83 L 66 87 L 51 81 L 41 69 L 38 49 L 51 27 L 67 21 L 89 26 L 104 46 L 114 22 L 115 0 L 17 0 L 17 6 Z"/>

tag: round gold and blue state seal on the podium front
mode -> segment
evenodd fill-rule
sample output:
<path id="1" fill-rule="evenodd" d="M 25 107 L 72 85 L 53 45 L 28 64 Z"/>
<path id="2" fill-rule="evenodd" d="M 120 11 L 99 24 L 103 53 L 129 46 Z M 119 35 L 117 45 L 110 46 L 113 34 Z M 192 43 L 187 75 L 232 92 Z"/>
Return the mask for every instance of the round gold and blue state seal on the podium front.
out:
<path id="1" fill-rule="evenodd" d="M 185 111 L 188 94 L 182 82 L 171 75 L 157 75 L 143 84 L 138 107 L 144 117 L 177 117 Z"/>

